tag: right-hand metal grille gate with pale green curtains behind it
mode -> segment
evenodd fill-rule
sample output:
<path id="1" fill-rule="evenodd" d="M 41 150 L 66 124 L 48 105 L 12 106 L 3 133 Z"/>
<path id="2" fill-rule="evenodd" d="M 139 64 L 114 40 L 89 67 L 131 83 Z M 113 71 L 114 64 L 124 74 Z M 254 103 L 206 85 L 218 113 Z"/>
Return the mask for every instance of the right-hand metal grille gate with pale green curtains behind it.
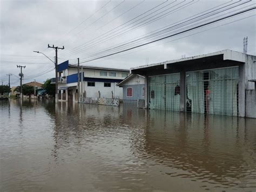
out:
<path id="1" fill-rule="evenodd" d="M 186 111 L 238 115 L 238 67 L 186 73 Z"/>

